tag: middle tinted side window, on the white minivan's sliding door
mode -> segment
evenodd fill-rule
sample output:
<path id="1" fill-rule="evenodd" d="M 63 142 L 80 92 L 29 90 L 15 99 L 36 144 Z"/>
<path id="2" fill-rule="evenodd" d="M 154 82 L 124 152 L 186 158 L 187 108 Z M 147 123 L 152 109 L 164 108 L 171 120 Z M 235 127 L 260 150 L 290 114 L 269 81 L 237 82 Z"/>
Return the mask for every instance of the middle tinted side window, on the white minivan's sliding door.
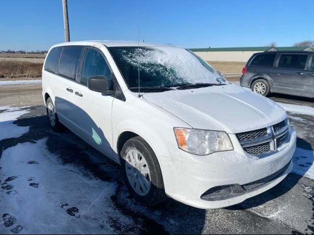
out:
<path id="1" fill-rule="evenodd" d="M 75 80 L 78 61 L 83 47 L 64 47 L 59 62 L 58 74 Z"/>

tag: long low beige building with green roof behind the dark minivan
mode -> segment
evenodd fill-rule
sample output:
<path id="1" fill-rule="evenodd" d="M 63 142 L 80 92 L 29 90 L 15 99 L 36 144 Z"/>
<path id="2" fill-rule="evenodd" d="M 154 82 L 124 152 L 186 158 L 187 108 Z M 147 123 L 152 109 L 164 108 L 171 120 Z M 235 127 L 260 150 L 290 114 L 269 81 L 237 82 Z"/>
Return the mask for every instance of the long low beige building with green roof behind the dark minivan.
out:
<path id="1" fill-rule="evenodd" d="M 264 51 L 314 51 L 311 47 L 209 47 L 190 50 L 206 61 L 234 62 L 247 62 L 254 53 Z"/>

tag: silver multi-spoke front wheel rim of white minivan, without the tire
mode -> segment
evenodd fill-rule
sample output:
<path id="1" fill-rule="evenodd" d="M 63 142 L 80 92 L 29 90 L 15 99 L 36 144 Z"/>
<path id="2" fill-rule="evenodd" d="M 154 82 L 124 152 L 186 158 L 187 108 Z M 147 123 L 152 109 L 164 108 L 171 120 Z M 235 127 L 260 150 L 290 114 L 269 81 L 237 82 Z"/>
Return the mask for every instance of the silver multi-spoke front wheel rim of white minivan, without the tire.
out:
<path id="1" fill-rule="evenodd" d="M 137 149 L 127 153 L 126 172 L 133 190 L 141 196 L 147 195 L 151 188 L 151 173 L 145 158 Z"/>

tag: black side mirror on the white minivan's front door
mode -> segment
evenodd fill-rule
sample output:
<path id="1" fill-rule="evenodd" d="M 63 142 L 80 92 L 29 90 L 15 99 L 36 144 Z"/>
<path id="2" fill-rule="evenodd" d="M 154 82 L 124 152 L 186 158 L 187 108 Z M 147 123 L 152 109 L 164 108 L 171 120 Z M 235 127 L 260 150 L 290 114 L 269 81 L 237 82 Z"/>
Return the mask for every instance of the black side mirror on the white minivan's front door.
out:
<path id="1" fill-rule="evenodd" d="M 108 95 L 114 94 L 114 91 L 111 90 L 111 84 L 112 81 L 106 76 L 92 76 L 87 80 L 87 87 L 89 90 Z"/>

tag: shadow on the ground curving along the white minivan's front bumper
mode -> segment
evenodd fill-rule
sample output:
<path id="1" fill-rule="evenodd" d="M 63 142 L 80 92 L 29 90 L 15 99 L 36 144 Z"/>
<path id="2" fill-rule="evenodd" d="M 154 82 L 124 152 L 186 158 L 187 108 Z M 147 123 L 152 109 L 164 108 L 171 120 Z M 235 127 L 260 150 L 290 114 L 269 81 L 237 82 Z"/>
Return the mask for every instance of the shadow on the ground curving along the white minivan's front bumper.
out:
<path id="1" fill-rule="evenodd" d="M 313 165 L 313 150 L 314 149 L 312 145 L 308 141 L 297 138 L 297 149 L 292 159 L 294 164 L 292 172 L 288 174 L 288 176 L 274 188 L 271 188 L 260 195 L 249 198 L 241 204 L 228 207 L 227 210 L 234 211 L 254 208 L 286 194 L 299 182 L 299 180 L 308 172 L 310 167 Z M 304 161 L 306 162 L 306 164 L 303 163 Z M 297 172 L 297 174 L 294 172 Z"/>

